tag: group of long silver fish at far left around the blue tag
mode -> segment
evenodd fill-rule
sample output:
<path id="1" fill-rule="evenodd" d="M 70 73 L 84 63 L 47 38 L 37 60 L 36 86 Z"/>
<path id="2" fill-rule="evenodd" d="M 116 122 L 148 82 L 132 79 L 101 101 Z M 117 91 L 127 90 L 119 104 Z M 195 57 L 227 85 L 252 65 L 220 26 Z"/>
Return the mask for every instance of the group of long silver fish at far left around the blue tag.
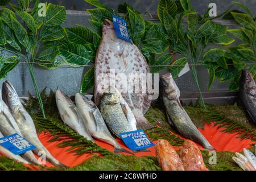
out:
<path id="1" fill-rule="evenodd" d="M 16 93 L 13 85 L 6 81 L 3 83 L 3 92 L 0 96 L 0 137 L 8 136 L 18 133 L 20 136 L 28 140 L 28 142 L 34 144 L 36 148 L 32 150 L 35 154 L 43 152 L 46 155 L 46 159 L 55 166 L 65 167 L 59 161 L 57 161 L 49 153 L 46 147 L 40 142 L 36 129 L 31 116 L 24 109 L 19 100 L 19 96 Z M 40 164 L 35 158 L 32 151 L 27 151 L 22 155 L 13 155 L 10 151 L 7 151 L 1 147 L 1 151 L 15 160 L 23 163 Z"/>

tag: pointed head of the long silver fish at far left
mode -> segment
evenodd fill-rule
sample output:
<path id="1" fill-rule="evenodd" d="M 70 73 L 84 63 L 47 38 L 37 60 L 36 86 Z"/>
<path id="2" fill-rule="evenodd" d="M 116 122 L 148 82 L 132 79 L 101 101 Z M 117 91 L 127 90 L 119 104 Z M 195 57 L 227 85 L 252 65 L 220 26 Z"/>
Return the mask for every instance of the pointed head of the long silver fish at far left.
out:
<path id="1" fill-rule="evenodd" d="M 3 82 L 2 98 L 3 101 L 9 106 L 11 113 L 17 113 L 19 111 L 19 106 L 21 105 L 19 96 L 14 89 L 14 86 L 8 81 Z"/>

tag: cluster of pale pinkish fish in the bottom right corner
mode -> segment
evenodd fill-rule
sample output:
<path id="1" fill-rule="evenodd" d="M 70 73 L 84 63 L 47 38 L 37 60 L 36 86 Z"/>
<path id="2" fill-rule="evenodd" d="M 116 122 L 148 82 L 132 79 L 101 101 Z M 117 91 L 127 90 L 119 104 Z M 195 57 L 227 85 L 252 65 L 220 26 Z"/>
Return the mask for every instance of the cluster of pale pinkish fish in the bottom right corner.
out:
<path id="1" fill-rule="evenodd" d="M 243 148 L 243 155 L 236 152 L 236 157 L 232 158 L 243 171 L 256 171 L 256 144 L 254 154 L 246 148 Z"/>

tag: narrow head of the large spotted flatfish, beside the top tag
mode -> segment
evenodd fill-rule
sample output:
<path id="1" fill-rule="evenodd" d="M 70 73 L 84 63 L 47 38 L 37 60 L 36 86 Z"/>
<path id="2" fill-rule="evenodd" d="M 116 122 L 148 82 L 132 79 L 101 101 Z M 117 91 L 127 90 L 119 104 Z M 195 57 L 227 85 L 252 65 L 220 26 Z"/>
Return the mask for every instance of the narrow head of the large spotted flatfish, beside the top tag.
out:
<path id="1" fill-rule="evenodd" d="M 119 43 L 122 42 L 122 39 L 117 37 L 115 34 L 113 22 L 109 19 L 104 20 L 104 24 L 102 26 L 102 37 L 105 42 L 111 43 Z"/>

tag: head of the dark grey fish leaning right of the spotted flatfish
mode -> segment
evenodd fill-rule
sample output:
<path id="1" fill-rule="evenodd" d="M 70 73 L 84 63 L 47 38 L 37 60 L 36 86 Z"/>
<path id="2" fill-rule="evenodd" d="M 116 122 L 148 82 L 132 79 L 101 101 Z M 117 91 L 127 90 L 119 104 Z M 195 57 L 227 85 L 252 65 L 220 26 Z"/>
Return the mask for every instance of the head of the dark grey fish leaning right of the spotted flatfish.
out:
<path id="1" fill-rule="evenodd" d="M 180 97 L 180 90 L 177 87 L 174 78 L 172 78 L 171 73 L 166 73 L 166 75 L 160 76 L 160 88 L 162 93 L 169 100 L 177 100 Z"/>

